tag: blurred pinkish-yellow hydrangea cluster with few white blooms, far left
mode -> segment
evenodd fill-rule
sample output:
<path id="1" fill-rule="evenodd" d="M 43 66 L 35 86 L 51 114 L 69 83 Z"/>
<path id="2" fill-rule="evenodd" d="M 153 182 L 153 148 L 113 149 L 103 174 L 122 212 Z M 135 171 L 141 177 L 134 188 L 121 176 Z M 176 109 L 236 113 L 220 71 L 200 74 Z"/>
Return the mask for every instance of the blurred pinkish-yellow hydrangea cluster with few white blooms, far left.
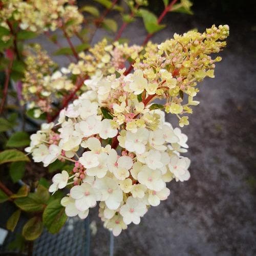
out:
<path id="1" fill-rule="evenodd" d="M 34 109 L 34 116 L 52 111 L 52 102 L 63 94 L 70 92 L 74 84 L 67 77 L 66 69 L 55 71 L 57 65 L 41 50 L 39 45 L 30 49 L 25 63 L 27 69 L 23 78 L 23 97 L 29 102 L 28 109 Z"/>

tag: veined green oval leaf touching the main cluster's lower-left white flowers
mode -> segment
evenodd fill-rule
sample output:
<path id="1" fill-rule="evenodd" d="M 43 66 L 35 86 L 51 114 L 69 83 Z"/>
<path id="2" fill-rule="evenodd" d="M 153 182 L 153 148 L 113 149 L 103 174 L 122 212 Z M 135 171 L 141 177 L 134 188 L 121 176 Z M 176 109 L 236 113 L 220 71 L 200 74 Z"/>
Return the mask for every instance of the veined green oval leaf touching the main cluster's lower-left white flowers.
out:
<path id="1" fill-rule="evenodd" d="M 53 200 L 47 205 L 42 214 L 42 221 L 51 233 L 57 233 L 67 220 L 65 207 L 60 204 L 61 199 Z"/>

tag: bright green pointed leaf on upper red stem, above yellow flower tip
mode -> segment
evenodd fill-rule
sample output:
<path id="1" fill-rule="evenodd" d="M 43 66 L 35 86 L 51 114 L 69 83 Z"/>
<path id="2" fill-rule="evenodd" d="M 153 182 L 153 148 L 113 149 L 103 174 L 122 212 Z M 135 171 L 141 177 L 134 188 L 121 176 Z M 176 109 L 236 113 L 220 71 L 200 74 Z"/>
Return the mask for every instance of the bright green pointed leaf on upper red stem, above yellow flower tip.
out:
<path id="1" fill-rule="evenodd" d="M 148 33 L 156 33 L 165 27 L 165 25 L 159 25 L 157 23 L 157 17 L 154 13 L 145 9 L 140 9 L 140 14 L 143 18 L 143 22 Z"/>

